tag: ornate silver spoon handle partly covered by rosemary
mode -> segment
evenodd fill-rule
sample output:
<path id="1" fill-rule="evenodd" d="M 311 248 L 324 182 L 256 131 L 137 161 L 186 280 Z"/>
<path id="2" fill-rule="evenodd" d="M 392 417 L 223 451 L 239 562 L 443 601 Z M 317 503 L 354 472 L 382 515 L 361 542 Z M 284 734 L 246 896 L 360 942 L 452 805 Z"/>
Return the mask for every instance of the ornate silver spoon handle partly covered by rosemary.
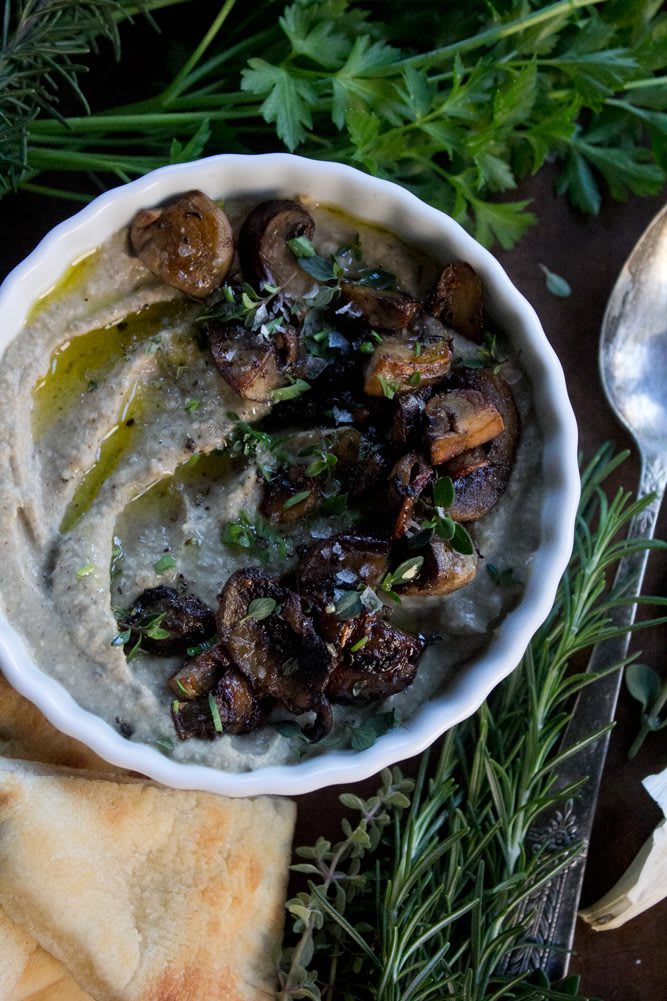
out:
<path id="1" fill-rule="evenodd" d="M 653 494 L 651 502 L 632 519 L 628 539 L 652 539 L 667 484 L 667 469 L 660 460 L 644 458 L 638 496 Z M 614 590 L 620 596 L 639 595 L 648 559 L 646 549 L 638 549 L 624 557 L 616 571 Z M 613 625 L 626 632 L 598 643 L 591 653 L 587 671 L 598 673 L 622 662 L 628 653 L 630 627 L 637 606 L 621 605 L 610 614 Z M 622 668 L 587 685 L 579 693 L 572 719 L 563 736 L 562 750 L 575 747 L 592 733 L 612 723 L 623 678 Z M 535 849 L 562 851 L 566 846 L 581 843 L 582 851 L 570 866 L 547 883 L 526 903 L 524 914 L 531 916 L 523 949 L 512 958 L 508 974 L 542 969 L 551 982 L 565 977 L 574 941 L 579 897 L 584 879 L 593 818 L 604 769 L 609 730 L 596 741 L 566 759 L 558 770 L 554 791 L 566 789 L 587 776 L 585 784 L 560 809 L 543 814 L 529 835 Z"/>

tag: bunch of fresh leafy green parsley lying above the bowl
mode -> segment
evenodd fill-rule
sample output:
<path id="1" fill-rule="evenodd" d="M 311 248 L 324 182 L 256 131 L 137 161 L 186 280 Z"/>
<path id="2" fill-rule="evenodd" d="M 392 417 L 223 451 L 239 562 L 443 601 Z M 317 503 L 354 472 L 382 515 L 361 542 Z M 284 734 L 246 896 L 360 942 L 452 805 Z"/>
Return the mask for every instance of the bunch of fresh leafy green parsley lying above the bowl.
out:
<path id="1" fill-rule="evenodd" d="M 625 198 L 665 182 L 667 14 L 657 0 L 448 3 L 445 14 L 431 0 L 409 11 L 398 0 L 265 0 L 249 11 L 231 0 L 164 90 L 66 124 L 57 100 L 62 84 L 78 87 L 73 54 L 98 36 L 116 41 L 126 5 L 15 6 L 0 60 L 0 191 L 35 187 L 56 168 L 126 178 L 203 151 L 263 150 L 268 130 L 289 150 L 398 181 L 482 242 L 510 247 L 535 216 L 508 193 L 548 158 L 560 164 L 558 190 L 584 212 L 599 210 L 605 189 Z M 55 68 L 48 42 L 67 25 Z M 18 42 L 34 55 L 29 95 Z"/>

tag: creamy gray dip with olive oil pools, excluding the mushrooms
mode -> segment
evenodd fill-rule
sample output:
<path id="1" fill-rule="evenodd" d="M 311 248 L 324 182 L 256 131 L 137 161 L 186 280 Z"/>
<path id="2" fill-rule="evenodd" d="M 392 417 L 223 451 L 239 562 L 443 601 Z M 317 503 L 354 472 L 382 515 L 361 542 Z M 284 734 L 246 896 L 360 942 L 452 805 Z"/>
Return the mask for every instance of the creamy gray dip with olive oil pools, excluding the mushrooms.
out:
<path id="1" fill-rule="evenodd" d="M 225 209 L 237 228 L 247 206 Z M 422 298 L 433 284 L 437 263 L 398 238 L 319 205 L 308 209 L 320 254 L 359 233 L 365 262 L 396 274 L 400 288 Z M 266 404 L 240 399 L 220 377 L 198 342 L 200 311 L 130 254 L 126 230 L 35 305 L 0 361 L 0 608 L 39 667 L 83 708 L 178 761 L 244 771 L 293 761 L 303 743 L 296 751 L 272 727 L 178 742 L 166 688 L 178 660 L 141 654 L 128 663 L 112 645 L 114 606 L 180 575 L 214 606 L 228 576 L 253 562 L 223 545 L 220 528 L 256 510 L 254 468 L 219 450 L 233 428 L 229 411 L 253 421 Z M 476 349 L 455 336 L 455 354 Z M 390 707 L 399 722 L 409 719 L 488 645 L 520 598 L 539 543 L 542 447 L 525 373 L 514 359 L 503 373 L 521 440 L 509 487 L 474 536 L 484 561 L 511 566 L 519 584 L 499 587 L 483 563 L 453 595 L 404 599 L 393 621 L 441 640 L 405 692 L 370 709 L 335 707 L 339 727 Z M 338 529 L 314 518 L 299 531 L 307 543 Z"/>

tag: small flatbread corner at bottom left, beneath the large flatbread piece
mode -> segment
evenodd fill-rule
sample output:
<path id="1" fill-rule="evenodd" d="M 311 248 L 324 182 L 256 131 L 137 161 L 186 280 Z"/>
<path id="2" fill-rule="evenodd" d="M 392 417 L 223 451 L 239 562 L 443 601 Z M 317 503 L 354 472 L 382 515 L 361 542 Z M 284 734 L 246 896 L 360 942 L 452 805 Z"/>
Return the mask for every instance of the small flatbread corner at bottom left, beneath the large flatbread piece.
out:
<path id="1" fill-rule="evenodd" d="M 62 963 L 0 911 L 0 1001 L 92 1001 Z"/>

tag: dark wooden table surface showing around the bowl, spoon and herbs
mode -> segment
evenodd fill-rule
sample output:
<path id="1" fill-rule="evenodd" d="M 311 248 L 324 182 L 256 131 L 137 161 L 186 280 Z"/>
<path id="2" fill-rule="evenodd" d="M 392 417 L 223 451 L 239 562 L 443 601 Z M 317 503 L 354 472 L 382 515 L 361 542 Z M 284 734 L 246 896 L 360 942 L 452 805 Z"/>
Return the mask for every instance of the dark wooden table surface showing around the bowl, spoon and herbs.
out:
<path id="1" fill-rule="evenodd" d="M 498 254 L 517 287 L 537 309 L 559 353 L 577 413 L 581 446 L 586 455 L 602 441 L 632 446 L 604 399 L 597 370 L 598 336 L 607 298 L 618 271 L 663 198 L 607 202 L 599 217 L 582 219 L 552 192 L 551 178 L 542 173 L 524 185 L 521 197 L 532 197 L 540 224 L 514 250 Z M 72 212 L 71 204 L 20 195 L 2 202 L 0 273 L 4 275 L 29 252 L 56 222 Z M 567 278 L 569 298 L 547 292 L 538 264 Z M 632 358 L 628 358 L 632 363 Z M 667 377 L 667 373 L 666 377 Z M 634 488 L 636 455 L 625 463 L 618 481 Z M 667 518 L 660 534 L 667 538 Z M 666 561 L 652 558 L 646 592 L 662 594 Z M 664 651 L 667 630 L 642 633 L 633 649 L 642 659 L 667 673 Z M 583 903 L 602 896 L 618 879 L 649 836 L 661 814 L 640 780 L 667 766 L 667 731 L 649 737 L 636 761 L 627 750 L 639 726 L 637 704 L 624 692 L 618 726 L 612 736 L 607 771 L 593 832 Z M 336 791 L 315 793 L 299 801 L 297 841 L 313 833 L 335 835 Z M 329 830 L 322 830 L 328 828 Z M 618 931 L 592 932 L 579 922 L 572 971 L 582 975 L 582 987 L 604 1001 L 661 1001 L 667 997 L 667 901 Z"/>

